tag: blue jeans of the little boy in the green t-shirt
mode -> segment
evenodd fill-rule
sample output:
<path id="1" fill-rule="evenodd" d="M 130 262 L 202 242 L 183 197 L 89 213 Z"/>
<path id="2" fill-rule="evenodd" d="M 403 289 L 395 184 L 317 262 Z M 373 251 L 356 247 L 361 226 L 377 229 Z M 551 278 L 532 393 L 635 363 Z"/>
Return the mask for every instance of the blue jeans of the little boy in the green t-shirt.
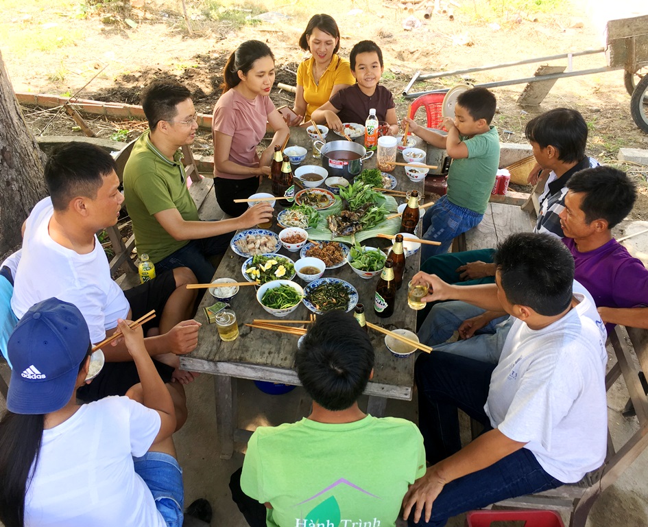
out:
<path id="1" fill-rule="evenodd" d="M 441 196 L 422 220 L 423 239 L 441 242 L 441 245 L 422 245 L 421 261 L 447 253 L 453 239 L 479 225 L 481 218 L 483 214 L 458 207 L 448 200 L 448 196 Z"/>

